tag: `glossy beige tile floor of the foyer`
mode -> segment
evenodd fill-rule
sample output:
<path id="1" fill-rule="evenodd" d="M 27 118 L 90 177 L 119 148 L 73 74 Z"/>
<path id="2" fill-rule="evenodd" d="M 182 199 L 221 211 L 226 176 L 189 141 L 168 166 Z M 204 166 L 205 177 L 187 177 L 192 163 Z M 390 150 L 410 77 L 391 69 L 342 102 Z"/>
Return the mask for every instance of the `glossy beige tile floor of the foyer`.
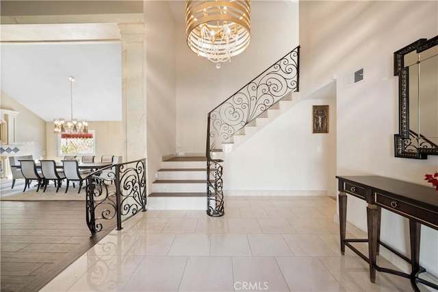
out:
<path id="1" fill-rule="evenodd" d="M 225 210 L 136 215 L 42 291 L 412 291 L 388 273 L 370 282 L 364 260 L 340 254 L 329 197 L 227 197 Z"/>

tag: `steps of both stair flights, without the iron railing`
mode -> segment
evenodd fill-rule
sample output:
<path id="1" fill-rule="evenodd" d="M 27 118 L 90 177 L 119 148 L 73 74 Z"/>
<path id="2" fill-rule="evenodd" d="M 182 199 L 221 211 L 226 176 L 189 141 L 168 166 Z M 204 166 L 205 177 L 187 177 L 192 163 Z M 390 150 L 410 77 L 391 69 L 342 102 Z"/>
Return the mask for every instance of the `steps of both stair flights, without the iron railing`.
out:
<path id="1" fill-rule="evenodd" d="M 289 93 L 280 102 L 263 112 L 257 119 L 246 125 L 234 136 L 222 143 L 221 149 L 212 151 L 215 159 L 224 159 L 227 153 L 242 145 L 283 112 L 292 108 L 299 100 L 299 93 Z M 164 160 L 158 177 L 152 184 L 148 197 L 149 210 L 205 210 L 206 171 L 205 156 L 177 156 Z"/>

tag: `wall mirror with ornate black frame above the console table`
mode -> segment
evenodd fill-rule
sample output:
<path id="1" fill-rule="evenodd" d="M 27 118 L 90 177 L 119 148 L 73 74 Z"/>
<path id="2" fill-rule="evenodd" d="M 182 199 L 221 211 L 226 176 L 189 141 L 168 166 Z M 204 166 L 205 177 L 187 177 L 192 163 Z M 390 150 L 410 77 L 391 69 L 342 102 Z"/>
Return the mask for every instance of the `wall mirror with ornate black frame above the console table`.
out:
<path id="1" fill-rule="evenodd" d="M 394 70 L 400 95 L 396 156 L 438 155 L 438 36 L 396 51 Z"/>

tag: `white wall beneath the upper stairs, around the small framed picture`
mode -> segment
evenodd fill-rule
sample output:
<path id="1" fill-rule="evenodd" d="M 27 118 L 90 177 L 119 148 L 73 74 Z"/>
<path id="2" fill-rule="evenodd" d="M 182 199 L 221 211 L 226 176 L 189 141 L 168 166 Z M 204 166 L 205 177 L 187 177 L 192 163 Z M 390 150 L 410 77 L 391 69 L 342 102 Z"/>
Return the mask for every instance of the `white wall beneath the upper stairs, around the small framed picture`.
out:
<path id="1" fill-rule="evenodd" d="M 335 195 L 336 99 L 306 99 L 224 159 L 227 195 Z M 312 106 L 329 105 L 329 133 L 312 133 Z"/>

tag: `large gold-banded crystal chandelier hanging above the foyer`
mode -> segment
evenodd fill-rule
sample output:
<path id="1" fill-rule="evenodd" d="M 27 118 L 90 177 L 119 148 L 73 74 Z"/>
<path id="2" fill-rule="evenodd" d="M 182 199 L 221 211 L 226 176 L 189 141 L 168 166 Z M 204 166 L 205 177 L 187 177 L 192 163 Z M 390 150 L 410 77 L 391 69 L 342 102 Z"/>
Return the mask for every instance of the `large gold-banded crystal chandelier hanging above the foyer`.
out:
<path id="1" fill-rule="evenodd" d="M 220 68 L 248 47 L 250 14 L 250 1 L 185 1 L 187 45 Z"/>

